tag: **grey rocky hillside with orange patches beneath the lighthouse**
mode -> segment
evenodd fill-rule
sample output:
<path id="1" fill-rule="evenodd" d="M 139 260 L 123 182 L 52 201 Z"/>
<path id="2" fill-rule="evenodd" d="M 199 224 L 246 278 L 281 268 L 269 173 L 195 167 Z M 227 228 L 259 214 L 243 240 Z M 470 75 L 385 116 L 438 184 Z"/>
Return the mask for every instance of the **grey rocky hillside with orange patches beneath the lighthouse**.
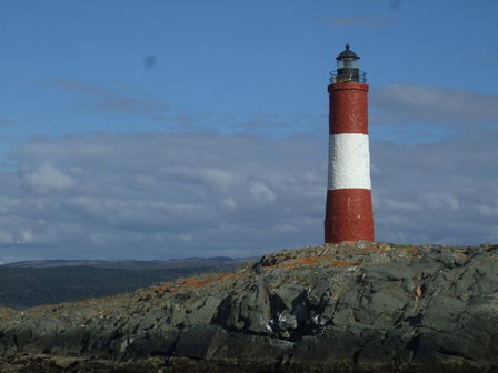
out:
<path id="1" fill-rule="evenodd" d="M 0 372 L 497 372 L 498 245 L 312 246 L 0 316 Z"/>

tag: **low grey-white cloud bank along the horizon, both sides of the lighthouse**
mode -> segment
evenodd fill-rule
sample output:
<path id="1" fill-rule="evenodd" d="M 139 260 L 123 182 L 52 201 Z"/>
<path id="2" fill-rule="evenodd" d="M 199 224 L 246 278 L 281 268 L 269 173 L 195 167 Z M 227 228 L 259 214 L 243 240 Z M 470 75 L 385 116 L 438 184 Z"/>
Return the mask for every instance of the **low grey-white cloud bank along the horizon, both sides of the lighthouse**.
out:
<path id="1" fill-rule="evenodd" d="M 251 256 L 321 243 L 326 141 L 33 138 L 12 153 L 21 171 L 1 172 L 0 256 Z M 496 141 L 492 130 L 409 147 L 372 141 L 377 239 L 497 241 Z"/>

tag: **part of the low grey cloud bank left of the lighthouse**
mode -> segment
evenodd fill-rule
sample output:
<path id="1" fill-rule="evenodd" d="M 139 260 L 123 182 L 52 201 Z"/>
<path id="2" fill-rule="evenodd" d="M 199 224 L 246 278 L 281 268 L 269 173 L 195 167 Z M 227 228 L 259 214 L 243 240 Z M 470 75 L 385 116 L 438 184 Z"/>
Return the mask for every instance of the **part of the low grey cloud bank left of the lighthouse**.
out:
<path id="1" fill-rule="evenodd" d="M 21 178 L 4 174 L 13 184 L 29 180 L 30 188 L 13 188 L 17 199 L 0 199 L 0 215 L 11 222 L 6 232 L 32 229 L 34 241 L 1 250 L 20 256 L 175 258 L 227 250 L 257 255 L 318 243 L 322 218 L 313 210 L 325 199 L 326 167 L 310 168 L 307 154 L 320 147 L 325 152 L 309 137 L 270 141 L 216 133 L 34 138 L 12 153 L 24 170 Z M 63 175 L 71 182 L 61 182 L 68 181 Z M 297 224 L 301 213 L 303 223 Z M 282 226 L 290 232 L 283 240 Z"/>

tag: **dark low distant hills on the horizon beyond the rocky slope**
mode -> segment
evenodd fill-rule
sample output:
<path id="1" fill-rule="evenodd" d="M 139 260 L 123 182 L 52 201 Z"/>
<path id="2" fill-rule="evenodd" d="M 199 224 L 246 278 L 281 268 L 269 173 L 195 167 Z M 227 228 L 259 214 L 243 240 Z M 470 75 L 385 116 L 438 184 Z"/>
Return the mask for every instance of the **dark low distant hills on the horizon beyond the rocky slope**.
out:
<path id="1" fill-rule="evenodd" d="M 130 293 L 181 276 L 231 271 L 249 260 L 24 261 L 0 265 L 0 306 L 26 309 Z"/>

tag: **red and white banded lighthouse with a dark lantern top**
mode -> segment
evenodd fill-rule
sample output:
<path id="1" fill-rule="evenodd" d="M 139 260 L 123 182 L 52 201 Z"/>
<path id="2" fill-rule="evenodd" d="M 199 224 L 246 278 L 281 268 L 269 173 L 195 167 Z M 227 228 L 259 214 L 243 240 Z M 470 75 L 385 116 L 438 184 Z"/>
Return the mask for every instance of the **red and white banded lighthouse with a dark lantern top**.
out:
<path id="1" fill-rule="evenodd" d="M 374 241 L 368 84 L 359 59 L 347 44 L 330 73 L 325 243 Z"/>

